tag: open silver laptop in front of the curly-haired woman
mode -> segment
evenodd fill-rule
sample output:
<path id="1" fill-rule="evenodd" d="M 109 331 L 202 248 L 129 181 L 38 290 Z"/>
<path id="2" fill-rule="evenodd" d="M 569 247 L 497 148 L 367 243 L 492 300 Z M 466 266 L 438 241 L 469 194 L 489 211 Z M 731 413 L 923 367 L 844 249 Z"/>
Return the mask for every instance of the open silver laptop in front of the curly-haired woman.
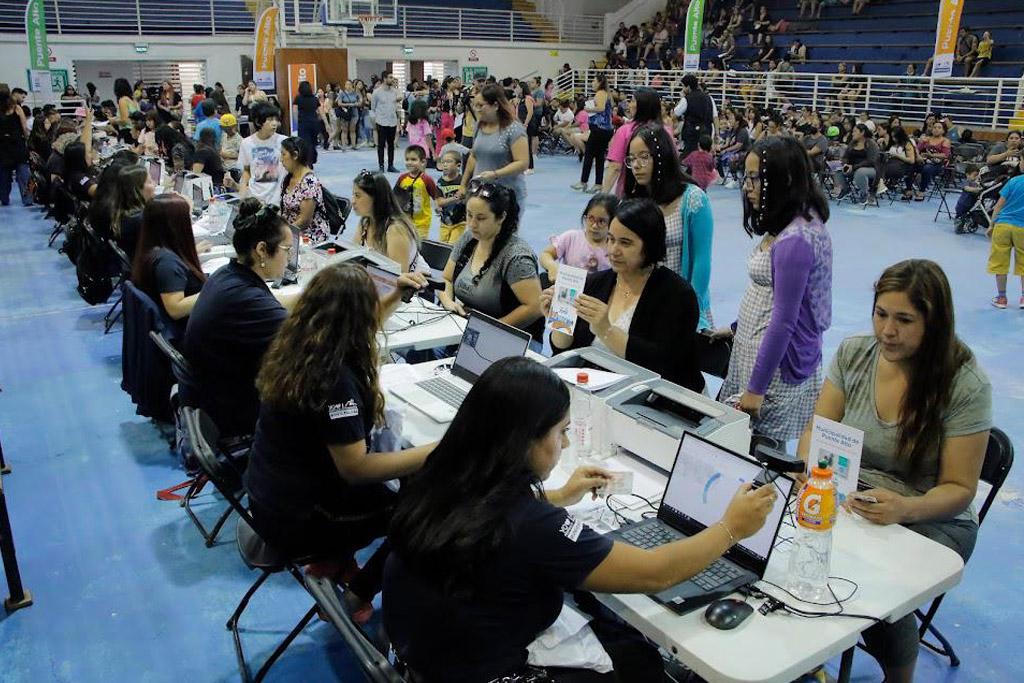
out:
<path id="1" fill-rule="evenodd" d="M 528 332 L 474 310 L 462 333 L 452 370 L 416 384 L 392 387 L 391 393 L 434 422 L 451 422 L 473 383 L 490 364 L 524 355 L 529 340 Z"/>

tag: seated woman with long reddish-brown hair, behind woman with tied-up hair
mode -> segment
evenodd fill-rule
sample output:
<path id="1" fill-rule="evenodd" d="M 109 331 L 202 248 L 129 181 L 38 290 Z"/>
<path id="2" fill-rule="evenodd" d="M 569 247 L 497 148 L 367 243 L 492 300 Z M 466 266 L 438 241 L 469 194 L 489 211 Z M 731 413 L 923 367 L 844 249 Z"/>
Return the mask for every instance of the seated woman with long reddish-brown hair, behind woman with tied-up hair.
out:
<path id="1" fill-rule="evenodd" d="M 180 340 L 206 282 L 185 198 L 165 194 L 145 205 L 131 281 L 163 308 L 172 323 L 169 336 Z"/>

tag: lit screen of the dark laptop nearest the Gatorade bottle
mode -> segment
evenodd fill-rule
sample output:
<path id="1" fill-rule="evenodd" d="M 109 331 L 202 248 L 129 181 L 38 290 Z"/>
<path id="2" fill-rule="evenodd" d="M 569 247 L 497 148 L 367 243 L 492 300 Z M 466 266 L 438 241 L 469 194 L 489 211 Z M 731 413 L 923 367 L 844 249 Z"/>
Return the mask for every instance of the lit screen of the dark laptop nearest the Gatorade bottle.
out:
<path id="1" fill-rule="evenodd" d="M 753 460 L 685 432 L 662 500 L 662 514 L 668 512 L 670 517 L 681 519 L 687 531 L 695 525 L 699 528 L 694 532 L 711 526 L 722 518 L 736 488 L 741 483 L 754 481 L 762 470 L 762 466 Z M 768 514 L 765 525 L 751 538 L 736 544 L 737 549 L 761 564 L 766 563 L 771 554 L 775 536 L 785 515 L 793 480 L 780 476 L 773 484 L 766 485 L 774 484 L 778 484 L 781 490 L 777 492 L 775 507 Z"/>

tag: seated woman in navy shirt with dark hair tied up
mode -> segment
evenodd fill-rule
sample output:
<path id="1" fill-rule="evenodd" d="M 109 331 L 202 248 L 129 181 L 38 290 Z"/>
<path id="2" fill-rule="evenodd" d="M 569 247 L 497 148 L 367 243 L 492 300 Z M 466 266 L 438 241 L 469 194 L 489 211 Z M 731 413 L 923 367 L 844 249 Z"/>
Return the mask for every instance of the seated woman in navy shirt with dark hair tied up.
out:
<path id="1" fill-rule="evenodd" d="M 203 286 L 188 316 L 182 352 L 198 386 L 195 398 L 222 436 L 252 434 L 259 415 L 256 374 L 263 354 L 288 316 L 286 304 L 266 286 L 281 279 L 292 250 L 292 230 L 276 209 L 257 199 L 239 205 L 231 239 L 238 257 Z"/>

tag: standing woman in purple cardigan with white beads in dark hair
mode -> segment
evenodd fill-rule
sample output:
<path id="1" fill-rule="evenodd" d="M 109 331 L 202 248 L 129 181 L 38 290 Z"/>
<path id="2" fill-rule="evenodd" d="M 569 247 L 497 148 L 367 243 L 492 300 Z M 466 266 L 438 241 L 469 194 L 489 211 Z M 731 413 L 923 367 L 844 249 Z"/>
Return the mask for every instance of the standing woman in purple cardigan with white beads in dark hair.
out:
<path id="1" fill-rule="evenodd" d="M 821 388 L 821 336 L 831 325 L 828 204 L 807 155 L 770 137 L 746 157 L 744 227 L 762 236 L 734 325 L 723 398 L 737 396 L 758 434 L 797 438 Z"/>

